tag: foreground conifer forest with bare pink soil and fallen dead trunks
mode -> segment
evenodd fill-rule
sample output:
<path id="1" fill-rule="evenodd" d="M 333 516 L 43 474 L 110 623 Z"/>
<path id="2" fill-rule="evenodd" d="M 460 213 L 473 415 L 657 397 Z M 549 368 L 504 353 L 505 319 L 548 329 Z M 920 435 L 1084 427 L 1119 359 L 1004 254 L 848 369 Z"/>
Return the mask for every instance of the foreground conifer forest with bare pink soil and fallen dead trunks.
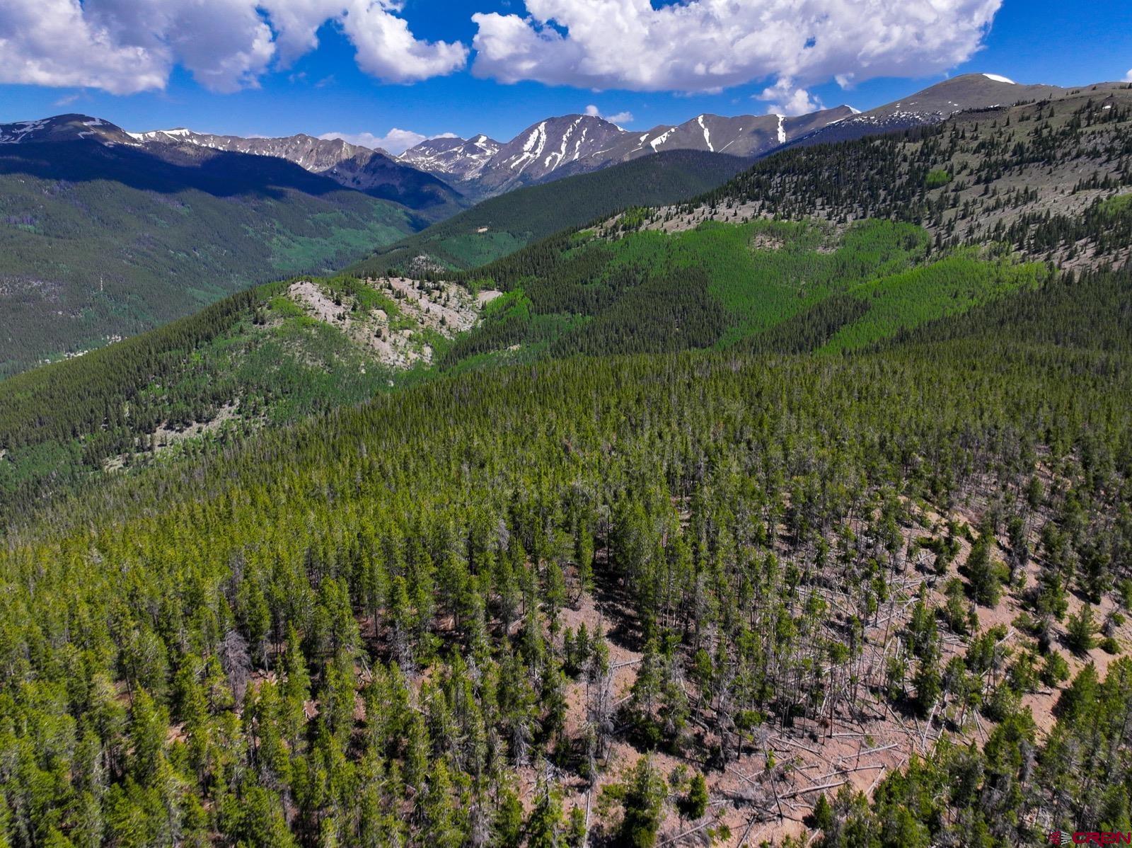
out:
<path id="1" fill-rule="evenodd" d="M 1040 750 L 1019 711 L 1132 585 L 1130 280 L 1058 284 L 883 353 L 437 380 L 44 511 L 0 551 L 7 839 L 652 845 L 881 704 L 995 729 L 818 805 L 827 845 L 1122 824 L 1127 771 L 1083 761 L 1127 761 L 1126 663 Z M 1004 593 L 1009 650 L 971 624 Z M 626 742 L 689 771 L 617 772 Z"/>

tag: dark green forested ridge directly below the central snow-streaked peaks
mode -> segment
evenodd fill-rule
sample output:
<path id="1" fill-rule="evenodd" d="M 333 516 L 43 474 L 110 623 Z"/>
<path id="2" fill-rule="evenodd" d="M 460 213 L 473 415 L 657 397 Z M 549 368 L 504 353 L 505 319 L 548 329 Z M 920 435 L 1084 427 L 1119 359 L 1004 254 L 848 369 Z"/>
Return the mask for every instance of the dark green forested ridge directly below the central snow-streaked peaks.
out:
<path id="1" fill-rule="evenodd" d="M 626 206 L 654 206 L 694 197 L 744 166 L 745 161 L 734 156 L 678 151 L 518 189 L 389 245 L 349 271 L 384 274 L 388 268 L 408 269 L 420 256 L 428 257 L 426 266 L 486 265 L 531 241 Z"/>

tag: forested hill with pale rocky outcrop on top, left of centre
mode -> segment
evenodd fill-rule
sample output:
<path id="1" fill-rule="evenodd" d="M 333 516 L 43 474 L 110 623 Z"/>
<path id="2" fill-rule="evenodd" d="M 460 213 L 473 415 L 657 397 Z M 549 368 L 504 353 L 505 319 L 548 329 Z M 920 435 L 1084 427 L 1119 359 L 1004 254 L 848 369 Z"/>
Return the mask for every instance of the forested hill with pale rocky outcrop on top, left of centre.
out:
<path id="1" fill-rule="evenodd" d="M 105 474 L 420 379 L 492 294 L 401 279 L 273 283 L 10 377 L 0 383 L 0 524 Z"/>

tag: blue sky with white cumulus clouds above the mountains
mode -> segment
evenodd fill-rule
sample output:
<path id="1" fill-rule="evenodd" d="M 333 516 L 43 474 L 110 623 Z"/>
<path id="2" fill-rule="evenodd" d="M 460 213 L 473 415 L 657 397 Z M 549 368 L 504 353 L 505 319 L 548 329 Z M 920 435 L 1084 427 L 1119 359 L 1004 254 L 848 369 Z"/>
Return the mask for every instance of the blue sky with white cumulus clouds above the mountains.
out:
<path id="1" fill-rule="evenodd" d="M 85 0 L 79 7 L 78 0 L 3 0 L 0 6 L 19 7 L 27 2 L 31 15 L 34 2 L 34 9 L 41 12 L 44 6 L 58 7 L 60 16 L 74 16 L 77 8 L 78 15 L 86 18 L 101 16 L 82 20 L 84 25 L 105 28 L 105 22 L 111 20 L 111 28 L 105 32 L 113 34 L 114 23 L 136 14 L 138 3 L 160 1 Z M 120 26 L 125 34 L 113 37 L 122 45 L 122 58 L 102 65 L 72 61 L 68 53 L 80 52 L 75 44 L 61 48 L 55 55 L 51 32 L 28 36 L 23 45 L 17 38 L 16 46 L 8 50 L 23 50 L 25 54 L 6 57 L 0 48 L 0 65 L 27 67 L 31 58 L 42 69 L 34 79 L 48 84 L 28 84 L 14 72 L 0 76 L 0 82 L 6 83 L 0 84 L 0 122 L 76 111 L 105 118 L 130 130 L 188 126 L 235 135 L 302 131 L 384 137 L 392 128 L 398 128 L 422 136 L 454 132 L 468 137 L 486 132 L 506 140 L 540 118 L 581 112 L 591 105 L 604 115 L 620 115 L 624 126 L 646 129 L 684 121 L 701 112 L 740 114 L 790 108 L 805 111 L 817 103 L 827 106 L 849 103 L 868 109 L 966 71 L 992 71 L 1021 83 L 1057 85 L 1124 79 L 1132 74 L 1132 2 L 1114 0 L 1078 3 L 954 0 L 952 17 L 927 32 L 928 37 L 935 38 L 941 29 L 950 27 L 955 33 L 953 37 L 949 33 L 944 43 L 927 48 L 923 46 L 923 34 L 909 36 L 907 44 L 885 43 L 872 51 L 872 61 L 858 55 L 863 41 L 872 38 L 874 33 L 868 22 L 852 19 L 852 0 L 829 0 L 825 6 L 835 27 L 804 38 L 806 43 L 797 49 L 782 50 L 775 40 L 789 42 L 807 31 L 791 28 L 795 22 L 784 19 L 782 29 L 774 35 L 760 32 L 762 27 L 754 23 L 746 33 L 741 19 L 736 23 L 732 16 L 720 23 L 711 16 L 712 8 L 724 8 L 722 5 L 728 0 L 663 3 L 670 7 L 669 11 L 677 7 L 677 11 L 688 15 L 667 23 L 658 0 L 653 0 L 651 9 L 645 0 L 526 0 L 525 6 L 523 0 L 406 0 L 400 6 L 392 0 L 341 0 L 376 2 L 380 18 L 370 22 L 377 27 L 376 35 L 372 29 L 355 28 L 348 33 L 343 24 L 348 16 L 335 17 L 334 2 L 327 0 L 326 19 L 317 26 L 318 46 L 289 49 L 286 33 L 278 24 L 289 1 L 273 0 L 274 7 L 268 7 L 276 9 L 278 17 L 268 17 L 263 6 L 258 12 L 250 12 L 269 22 L 276 33 L 275 43 L 266 48 L 258 42 L 255 48 L 225 44 L 209 32 L 208 20 L 172 18 L 164 23 L 143 22 L 152 32 L 142 35 L 137 34 L 132 19 L 130 27 Z M 749 9 L 753 22 L 757 7 L 763 6 L 760 0 L 730 1 Z M 235 14 L 232 8 L 241 0 L 205 2 L 214 2 L 217 8 L 224 5 L 223 11 L 213 17 L 217 26 L 225 27 L 226 37 L 233 26 L 224 23 L 223 15 Z M 68 10 L 62 5 L 72 8 Z M 805 0 L 801 5 L 817 8 L 816 19 L 826 12 L 821 8 L 822 0 Z M 882 0 L 881 5 L 886 3 Z M 928 7 L 926 0 L 919 3 L 892 0 L 892 19 L 878 22 L 876 29 L 880 32 L 887 24 L 893 28 L 885 32 L 900 31 L 907 24 L 900 16 L 917 5 Z M 941 0 L 931 8 L 938 6 L 949 3 Z M 629 29 L 610 34 L 611 25 L 600 14 L 594 15 L 595 7 L 601 14 L 618 15 L 623 25 L 621 12 L 635 9 L 637 24 L 631 22 Z M 697 17 L 701 12 L 707 17 Z M 491 17 L 473 20 L 473 15 Z M 524 23 L 529 15 L 535 17 L 534 23 Z M 838 15 L 846 17 L 838 20 Z M 0 9 L 0 43 L 6 38 L 10 42 L 14 33 L 31 27 L 27 23 L 31 19 L 20 19 L 18 8 L 15 14 Z M 979 19 L 989 20 L 989 27 L 977 25 Z M 317 23 L 317 17 L 311 20 Z M 360 14 L 354 15 L 354 20 L 361 20 Z M 971 25 L 972 20 L 976 25 Z M 60 17 L 60 26 L 68 27 L 60 32 L 72 31 L 75 22 L 74 17 Z M 850 23 L 857 27 L 851 33 Z M 720 24 L 719 33 L 712 36 L 715 41 L 694 43 L 693 33 L 706 32 L 715 24 Z M 386 28 L 389 25 L 392 29 Z M 634 26 L 651 27 L 635 44 Z M 394 32 L 397 27 L 411 33 L 411 36 L 402 34 L 410 42 L 404 37 L 397 41 Z M 487 32 L 492 27 L 495 35 Z M 197 36 L 196 42 L 182 38 L 183 33 Z M 538 41 L 535 33 L 552 43 Z M 478 34 L 486 41 L 473 42 Z M 250 38 L 249 35 L 249 45 Z M 299 35 L 294 38 L 295 43 L 300 40 Z M 169 46 L 178 41 L 185 41 L 185 46 L 175 50 Z M 363 46 L 358 48 L 359 43 Z M 398 58 L 397 45 L 406 43 L 408 53 Z M 815 43 L 826 54 L 812 60 L 811 54 L 817 52 Z M 533 53 L 524 53 L 532 44 Z M 129 65 L 139 50 L 149 51 L 145 60 L 148 63 Z M 250 68 L 241 70 L 243 76 L 235 82 L 209 70 L 231 65 L 225 50 L 237 51 L 239 61 Z M 461 61 L 465 53 L 466 59 Z M 696 76 L 704 62 L 711 65 L 719 54 L 728 60 L 706 77 Z M 748 62 L 746 55 L 760 58 Z M 368 67 L 363 70 L 359 65 Z M 597 66 L 602 69 L 593 71 Z M 151 80 L 148 89 L 127 92 L 131 80 L 143 74 L 151 75 L 146 77 Z M 861 82 L 843 88 L 834 82 L 835 75 Z M 388 82 L 380 76 L 412 79 Z M 714 85 L 715 82 L 720 85 Z M 601 91 L 595 91 L 598 86 Z M 625 113 L 631 113 L 632 119 Z"/>

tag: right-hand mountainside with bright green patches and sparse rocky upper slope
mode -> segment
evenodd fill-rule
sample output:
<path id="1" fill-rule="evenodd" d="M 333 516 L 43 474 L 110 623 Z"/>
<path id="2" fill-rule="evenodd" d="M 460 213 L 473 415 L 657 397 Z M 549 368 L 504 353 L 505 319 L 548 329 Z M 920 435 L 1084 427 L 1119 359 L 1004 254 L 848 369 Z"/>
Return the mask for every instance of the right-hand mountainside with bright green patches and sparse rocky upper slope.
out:
<path id="1" fill-rule="evenodd" d="M 1132 257 L 1132 87 L 783 151 L 463 274 L 508 290 L 446 363 L 743 345 L 837 353 Z M 440 274 L 443 276 L 443 274 Z"/>

